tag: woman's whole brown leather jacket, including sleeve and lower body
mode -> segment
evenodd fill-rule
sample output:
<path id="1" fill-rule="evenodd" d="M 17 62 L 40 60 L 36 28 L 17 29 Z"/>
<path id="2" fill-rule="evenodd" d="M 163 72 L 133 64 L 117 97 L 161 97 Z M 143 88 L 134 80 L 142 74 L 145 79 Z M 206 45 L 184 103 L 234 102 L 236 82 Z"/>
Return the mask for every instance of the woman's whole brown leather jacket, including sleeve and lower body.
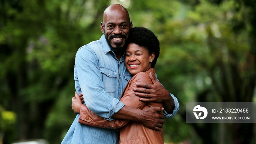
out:
<path id="1" fill-rule="evenodd" d="M 133 88 L 136 88 L 136 83 L 153 84 L 149 73 L 155 75 L 153 68 L 146 72 L 137 73 L 129 80 L 126 85 L 122 98 L 120 99 L 126 106 L 134 107 L 136 109 L 147 109 L 152 106 L 163 107 L 162 103 L 142 102 L 139 97 L 135 95 Z M 117 129 L 120 128 L 120 144 L 163 144 L 163 129 L 156 131 L 149 129 L 140 122 L 115 119 L 112 121 L 105 120 L 89 110 L 86 105 L 82 105 L 80 109 L 79 123 L 96 126 L 100 128 Z"/>

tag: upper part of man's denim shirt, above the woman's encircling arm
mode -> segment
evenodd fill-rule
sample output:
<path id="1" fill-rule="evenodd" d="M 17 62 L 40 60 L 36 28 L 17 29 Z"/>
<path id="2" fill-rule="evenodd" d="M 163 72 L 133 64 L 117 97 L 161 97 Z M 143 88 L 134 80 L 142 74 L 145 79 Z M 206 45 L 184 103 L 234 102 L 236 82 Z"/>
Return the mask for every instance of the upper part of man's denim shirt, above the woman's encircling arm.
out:
<path id="1" fill-rule="evenodd" d="M 91 111 L 106 120 L 113 120 L 112 115 L 124 106 L 119 100 L 131 77 L 125 67 L 124 56 L 118 61 L 105 35 L 99 41 L 82 46 L 76 53 L 76 91 L 83 93 L 86 106 Z"/>

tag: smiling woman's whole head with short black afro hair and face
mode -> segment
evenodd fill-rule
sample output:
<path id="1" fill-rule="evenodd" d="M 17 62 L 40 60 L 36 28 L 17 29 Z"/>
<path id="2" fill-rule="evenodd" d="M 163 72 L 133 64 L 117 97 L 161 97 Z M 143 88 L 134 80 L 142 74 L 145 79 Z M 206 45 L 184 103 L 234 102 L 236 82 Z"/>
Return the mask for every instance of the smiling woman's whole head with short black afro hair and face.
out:
<path id="1" fill-rule="evenodd" d="M 154 68 L 160 44 L 152 31 L 144 27 L 134 27 L 130 30 L 126 44 L 125 64 L 132 75 Z"/>

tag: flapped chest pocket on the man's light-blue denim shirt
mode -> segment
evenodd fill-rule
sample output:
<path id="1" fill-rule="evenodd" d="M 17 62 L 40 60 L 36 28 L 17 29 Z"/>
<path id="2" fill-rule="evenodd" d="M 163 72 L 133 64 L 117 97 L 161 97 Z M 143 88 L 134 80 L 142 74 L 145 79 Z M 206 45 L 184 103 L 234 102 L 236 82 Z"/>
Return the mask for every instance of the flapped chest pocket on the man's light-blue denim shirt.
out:
<path id="1" fill-rule="evenodd" d="M 106 67 L 99 67 L 99 71 L 102 74 L 104 89 L 109 93 L 109 95 L 114 96 L 117 81 L 117 72 Z"/>

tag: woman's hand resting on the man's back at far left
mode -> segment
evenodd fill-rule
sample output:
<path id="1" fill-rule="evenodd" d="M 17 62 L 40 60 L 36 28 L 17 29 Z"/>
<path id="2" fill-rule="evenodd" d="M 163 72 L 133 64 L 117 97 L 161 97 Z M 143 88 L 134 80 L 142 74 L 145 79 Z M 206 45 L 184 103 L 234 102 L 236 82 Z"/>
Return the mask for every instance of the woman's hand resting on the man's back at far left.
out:
<path id="1" fill-rule="evenodd" d="M 72 110 L 75 114 L 80 113 L 80 109 L 82 104 L 84 103 L 83 100 L 83 94 L 78 95 L 77 92 L 75 92 L 75 96 L 72 98 Z"/>

